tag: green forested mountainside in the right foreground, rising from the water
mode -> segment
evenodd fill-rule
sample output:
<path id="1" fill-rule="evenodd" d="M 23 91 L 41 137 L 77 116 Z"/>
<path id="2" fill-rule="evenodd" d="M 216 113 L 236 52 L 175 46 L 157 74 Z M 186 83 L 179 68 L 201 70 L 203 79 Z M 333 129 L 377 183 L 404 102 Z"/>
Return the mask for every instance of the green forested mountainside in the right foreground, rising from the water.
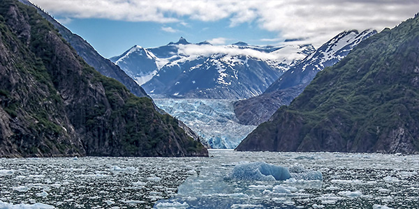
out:
<path id="1" fill-rule="evenodd" d="M 419 16 L 318 72 L 237 150 L 419 152 Z"/>

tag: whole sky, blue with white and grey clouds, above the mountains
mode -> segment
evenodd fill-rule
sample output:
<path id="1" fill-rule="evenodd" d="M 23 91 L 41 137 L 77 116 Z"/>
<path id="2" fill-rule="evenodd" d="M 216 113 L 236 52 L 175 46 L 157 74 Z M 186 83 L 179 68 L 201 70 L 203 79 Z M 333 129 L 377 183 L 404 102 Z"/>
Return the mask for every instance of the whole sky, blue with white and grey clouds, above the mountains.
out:
<path id="1" fill-rule="evenodd" d="M 106 58 L 134 45 L 167 45 L 181 36 L 213 45 L 295 40 L 319 47 L 341 31 L 381 31 L 419 13 L 419 0 L 30 1 Z"/>

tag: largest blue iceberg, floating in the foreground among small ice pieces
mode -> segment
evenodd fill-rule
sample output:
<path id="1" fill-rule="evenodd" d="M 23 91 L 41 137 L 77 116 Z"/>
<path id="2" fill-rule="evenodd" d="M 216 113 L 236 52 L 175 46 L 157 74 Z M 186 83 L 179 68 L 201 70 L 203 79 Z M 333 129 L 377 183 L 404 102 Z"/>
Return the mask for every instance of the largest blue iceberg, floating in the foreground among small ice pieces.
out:
<path id="1" fill-rule="evenodd" d="M 280 167 L 266 162 L 251 162 L 237 164 L 233 171 L 226 177 L 236 180 L 287 180 L 295 178 L 297 180 L 323 180 L 320 171 L 311 171 L 302 167 Z"/>

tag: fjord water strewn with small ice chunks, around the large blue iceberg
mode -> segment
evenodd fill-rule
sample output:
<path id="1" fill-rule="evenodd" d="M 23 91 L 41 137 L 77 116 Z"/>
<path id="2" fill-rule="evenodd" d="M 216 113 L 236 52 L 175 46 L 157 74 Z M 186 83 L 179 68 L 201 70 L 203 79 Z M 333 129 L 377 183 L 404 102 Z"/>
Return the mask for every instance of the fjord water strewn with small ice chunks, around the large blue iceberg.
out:
<path id="1" fill-rule="evenodd" d="M 419 208 L 419 155 L 210 155 L 0 159 L 0 208 Z M 245 162 L 300 166 L 323 180 L 226 179 Z"/>

